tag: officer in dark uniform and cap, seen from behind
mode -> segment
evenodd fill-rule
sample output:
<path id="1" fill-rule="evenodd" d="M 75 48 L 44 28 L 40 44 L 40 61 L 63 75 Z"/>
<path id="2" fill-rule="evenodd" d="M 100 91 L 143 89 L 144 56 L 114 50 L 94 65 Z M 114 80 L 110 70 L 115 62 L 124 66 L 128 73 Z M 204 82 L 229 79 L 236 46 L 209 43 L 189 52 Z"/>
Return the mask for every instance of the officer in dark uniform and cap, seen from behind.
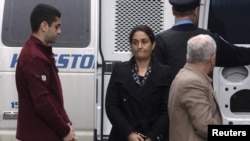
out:
<path id="1" fill-rule="evenodd" d="M 250 64 L 250 48 L 228 43 L 216 33 L 198 28 L 200 0 L 169 0 L 175 16 L 175 25 L 156 36 L 156 58 L 170 65 L 174 76 L 186 62 L 186 46 L 190 37 L 211 35 L 217 45 L 216 66 L 235 67 Z"/>

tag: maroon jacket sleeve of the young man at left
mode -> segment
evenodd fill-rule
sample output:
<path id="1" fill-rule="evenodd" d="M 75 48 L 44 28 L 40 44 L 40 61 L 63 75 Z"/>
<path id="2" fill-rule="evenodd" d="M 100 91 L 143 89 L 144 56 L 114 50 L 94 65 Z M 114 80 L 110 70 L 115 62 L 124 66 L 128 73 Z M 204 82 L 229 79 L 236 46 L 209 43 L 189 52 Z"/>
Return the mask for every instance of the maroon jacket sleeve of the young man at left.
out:
<path id="1" fill-rule="evenodd" d="M 29 61 L 27 63 L 29 65 L 25 65 L 23 70 L 31 93 L 34 110 L 40 118 L 63 138 L 69 133 L 70 128 L 68 123 L 64 121 L 61 111 L 56 108 L 58 103 L 54 100 L 54 95 L 48 88 L 49 83 L 41 79 L 41 75 L 45 77 L 50 75 L 47 63 L 40 58 L 30 59 Z"/>

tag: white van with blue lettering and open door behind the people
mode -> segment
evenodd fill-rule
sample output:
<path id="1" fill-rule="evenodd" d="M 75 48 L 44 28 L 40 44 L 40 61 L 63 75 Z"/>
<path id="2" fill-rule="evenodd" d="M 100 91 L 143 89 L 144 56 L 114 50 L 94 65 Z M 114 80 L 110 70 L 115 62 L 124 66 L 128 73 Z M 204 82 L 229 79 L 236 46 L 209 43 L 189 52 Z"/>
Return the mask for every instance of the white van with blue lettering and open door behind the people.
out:
<path id="1" fill-rule="evenodd" d="M 148 24 L 159 33 L 174 24 L 171 6 L 168 0 L 2 0 L 0 141 L 16 141 L 16 61 L 31 33 L 31 10 L 40 2 L 62 13 L 62 34 L 53 51 L 65 108 L 77 137 L 79 141 L 107 140 L 111 125 L 104 100 L 112 66 L 131 57 L 128 35 L 135 25 Z M 248 7 L 249 0 L 202 0 L 199 26 L 218 30 L 235 44 L 248 45 Z M 248 66 L 215 69 L 214 87 L 225 124 L 250 122 L 249 70 Z"/>

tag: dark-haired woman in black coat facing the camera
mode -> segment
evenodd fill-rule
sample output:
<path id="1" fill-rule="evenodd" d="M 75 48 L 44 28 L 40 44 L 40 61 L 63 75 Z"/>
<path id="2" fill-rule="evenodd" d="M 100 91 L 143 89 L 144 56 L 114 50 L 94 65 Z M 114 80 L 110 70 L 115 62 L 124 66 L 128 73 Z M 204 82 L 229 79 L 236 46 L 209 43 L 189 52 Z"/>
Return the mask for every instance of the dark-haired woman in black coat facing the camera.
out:
<path id="1" fill-rule="evenodd" d="M 114 65 L 107 88 L 109 141 L 167 141 L 170 68 L 153 58 L 155 35 L 150 27 L 136 26 L 129 42 L 133 56 Z"/>

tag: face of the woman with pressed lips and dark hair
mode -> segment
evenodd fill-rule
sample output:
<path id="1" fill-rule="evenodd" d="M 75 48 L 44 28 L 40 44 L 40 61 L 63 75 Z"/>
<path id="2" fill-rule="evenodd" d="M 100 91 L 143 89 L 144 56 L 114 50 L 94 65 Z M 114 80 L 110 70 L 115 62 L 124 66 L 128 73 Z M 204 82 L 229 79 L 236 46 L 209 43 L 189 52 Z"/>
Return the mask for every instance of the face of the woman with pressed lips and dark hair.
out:
<path id="1" fill-rule="evenodd" d="M 145 60 L 151 57 L 155 45 L 145 32 L 136 31 L 132 38 L 131 48 L 135 59 Z"/>

